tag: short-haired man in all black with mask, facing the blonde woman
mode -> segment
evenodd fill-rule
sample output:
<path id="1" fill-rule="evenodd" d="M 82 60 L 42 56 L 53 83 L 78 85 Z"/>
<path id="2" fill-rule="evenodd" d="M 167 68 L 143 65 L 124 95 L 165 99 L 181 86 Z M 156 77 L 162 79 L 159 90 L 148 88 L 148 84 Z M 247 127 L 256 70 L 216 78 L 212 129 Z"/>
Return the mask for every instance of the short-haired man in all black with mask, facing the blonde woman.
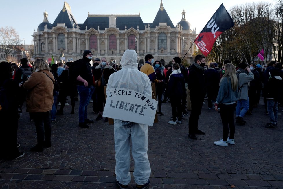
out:
<path id="1" fill-rule="evenodd" d="M 188 89 L 190 90 L 190 100 L 192 110 L 189 118 L 189 138 L 198 139 L 196 134 L 205 135 L 198 129 L 199 116 L 203 106 L 203 99 L 206 95 L 205 79 L 204 79 L 205 56 L 196 55 L 194 63 L 189 68 L 188 73 Z"/>

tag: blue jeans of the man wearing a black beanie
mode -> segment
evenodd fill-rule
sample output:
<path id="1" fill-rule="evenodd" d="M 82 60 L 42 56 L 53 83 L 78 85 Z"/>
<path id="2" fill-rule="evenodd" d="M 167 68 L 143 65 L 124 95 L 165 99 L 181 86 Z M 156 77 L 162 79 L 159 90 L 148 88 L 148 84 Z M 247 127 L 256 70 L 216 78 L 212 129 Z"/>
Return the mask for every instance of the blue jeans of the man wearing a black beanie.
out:
<path id="1" fill-rule="evenodd" d="M 77 88 L 80 95 L 79 123 L 83 123 L 84 119 L 87 118 L 87 105 L 91 100 L 91 96 L 94 92 L 94 87 L 85 87 L 84 85 L 78 85 Z"/>

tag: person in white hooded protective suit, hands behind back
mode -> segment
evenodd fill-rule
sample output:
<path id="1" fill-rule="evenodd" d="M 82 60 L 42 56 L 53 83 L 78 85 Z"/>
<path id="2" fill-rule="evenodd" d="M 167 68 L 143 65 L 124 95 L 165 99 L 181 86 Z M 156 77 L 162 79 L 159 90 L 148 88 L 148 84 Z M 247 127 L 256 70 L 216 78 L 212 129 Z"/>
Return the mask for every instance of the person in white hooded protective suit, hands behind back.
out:
<path id="1" fill-rule="evenodd" d="M 122 69 L 110 75 L 106 90 L 125 88 L 151 97 L 151 82 L 146 74 L 137 69 L 137 53 L 134 50 L 126 50 L 120 64 Z M 149 186 L 149 176 L 151 173 L 147 156 L 148 126 L 114 119 L 117 184 L 120 188 L 127 188 L 128 183 L 131 181 L 129 172 L 130 139 L 132 140 L 132 156 L 135 162 L 135 170 L 133 172 L 135 183 L 137 183 L 137 188 L 146 188 Z"/>

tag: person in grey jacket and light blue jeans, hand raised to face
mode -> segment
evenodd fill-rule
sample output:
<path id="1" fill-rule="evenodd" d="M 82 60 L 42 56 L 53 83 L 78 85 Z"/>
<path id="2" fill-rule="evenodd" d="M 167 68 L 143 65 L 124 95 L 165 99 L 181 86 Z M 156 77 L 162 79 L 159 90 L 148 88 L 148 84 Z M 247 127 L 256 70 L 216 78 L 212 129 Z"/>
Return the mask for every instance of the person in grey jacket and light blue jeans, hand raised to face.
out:
<path id="1" fill-rule="evenodd" d="M 244 115 L 249 110 L 249 97 L 248 90 L 250 81 L 254 79 L 253 72 L 246 63 L 240 63 L 239 68 L 236 71 L 238 78 L 238 101 L 236 107 L 236 123 L 239 125 L 245 125 L 243 119 Z M 221 111 L 221 110 L 220 110 Z"/>

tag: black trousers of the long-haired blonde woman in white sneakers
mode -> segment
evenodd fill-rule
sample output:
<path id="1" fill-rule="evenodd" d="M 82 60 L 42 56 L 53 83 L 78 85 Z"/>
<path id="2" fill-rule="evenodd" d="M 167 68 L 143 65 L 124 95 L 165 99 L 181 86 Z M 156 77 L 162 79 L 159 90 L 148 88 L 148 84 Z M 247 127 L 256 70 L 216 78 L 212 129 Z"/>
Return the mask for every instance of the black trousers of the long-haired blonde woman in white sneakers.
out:
<path id="1" fill-rule="evenodd" d="M 229 128 L 230 128 L 230 139 L 234 139 L 235 135 L 235 124 L 234 124 L 234 110 L 236 103 L 234 104 L 221 104 L 220 105 L 220 116 L 223 125 L 223 141 L 227 141 Z"/>

